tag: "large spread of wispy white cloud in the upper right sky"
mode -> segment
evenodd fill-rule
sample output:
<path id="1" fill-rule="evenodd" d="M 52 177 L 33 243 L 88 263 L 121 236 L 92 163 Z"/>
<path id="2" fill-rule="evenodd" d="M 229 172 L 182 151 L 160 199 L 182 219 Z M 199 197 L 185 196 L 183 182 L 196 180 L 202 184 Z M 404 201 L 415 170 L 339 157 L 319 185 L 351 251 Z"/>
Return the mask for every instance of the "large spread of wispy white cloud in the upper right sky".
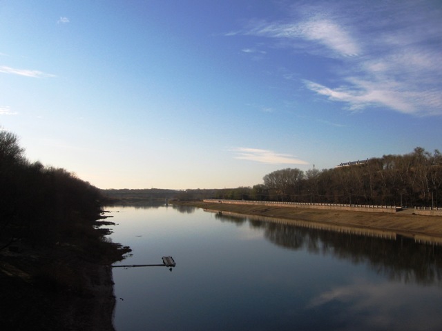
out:
<path id="1" fill-rule="evenodd" d="M 262 37 L 318 59 L 333 58 L 328 68 L 321 62 L 327 80 L 302 79 L 308 90 L 350 111 L 382 107 L 442 115 L 442 20 L 435 2 L 313 3 L 297 3 L 285 20 L 254 20 L 229 35 Z"/>

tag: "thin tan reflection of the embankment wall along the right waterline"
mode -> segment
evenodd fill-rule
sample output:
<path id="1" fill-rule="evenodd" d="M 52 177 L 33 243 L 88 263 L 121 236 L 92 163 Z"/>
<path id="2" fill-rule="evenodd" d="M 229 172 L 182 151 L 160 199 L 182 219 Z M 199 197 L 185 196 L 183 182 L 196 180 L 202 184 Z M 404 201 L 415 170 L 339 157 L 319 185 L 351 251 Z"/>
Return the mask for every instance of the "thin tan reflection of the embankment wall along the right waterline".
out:
<path id="1" fill-rule="evenodd" d="M 238 212 L 220 212 L 218 210 L 209 210 L 205 209 L 206 212 L 214 212 L 216 214 L 222 214 L 224 216 L 231 217 L 241 217 L 250 219 L 253 221 L 263 221 L 270 223 L 278 223 L 278 224 L 286 224 L 286 225 L 295 225 L 302 228 L 316 229 L 316 230 L 325 230 L 325 231 L 333 231 L 339 232 L 343 234 L 353 234 L 364 237 L 376 237 L 381 239 L 392 239 L 396 240 L 399 238 L 411 238 L 414 239 L 416 243 L 425 243 L 430 245 L 442 245 L 442 238 L 439 237 L 430 237 L 425 236 L 423 234 L 415 234 L 415 235 L 407 235 L 407 234 L 398 234 L 394 231 L 387 230 L 376 230 L 376 229 L 368 229 L 368 228 L 356 228 L 347 225 L 334 225 L 329 223 L 320 223 L 316 221 L 299 221 L 294 219 L 280 219 L 277 217 L 267 217 L 260 215 L 251 215 L 251 214 L 239 214 Z"/>

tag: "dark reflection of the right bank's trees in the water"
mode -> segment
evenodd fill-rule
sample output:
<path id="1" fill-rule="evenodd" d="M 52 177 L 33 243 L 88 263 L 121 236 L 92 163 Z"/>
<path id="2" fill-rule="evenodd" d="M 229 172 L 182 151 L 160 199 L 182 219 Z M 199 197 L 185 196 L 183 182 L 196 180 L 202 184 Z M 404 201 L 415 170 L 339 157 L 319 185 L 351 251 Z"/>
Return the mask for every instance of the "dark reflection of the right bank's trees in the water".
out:
<path id="1" fill-rule="evenodd" d="M 305 249 L 314 254 L 330 254 L 354 264 L 368 263 L 372 270 L 390 280 L 442 286 L 442 248 L 416 243 L 397 236 L 396 240 L 302 228 L 295 225 L 220 216 L 222 221 L 262 228 L 265 238 L 291 250 Z"/>

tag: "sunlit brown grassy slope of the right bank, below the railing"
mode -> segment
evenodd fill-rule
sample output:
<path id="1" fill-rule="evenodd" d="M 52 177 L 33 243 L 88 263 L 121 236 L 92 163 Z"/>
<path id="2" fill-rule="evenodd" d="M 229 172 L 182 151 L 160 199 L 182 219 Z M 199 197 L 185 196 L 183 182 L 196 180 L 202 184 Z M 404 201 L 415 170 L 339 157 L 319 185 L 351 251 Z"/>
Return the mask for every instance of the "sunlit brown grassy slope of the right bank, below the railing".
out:
<path id="1" fill-rule="evenodd" d="M 174 205 L 236 212 L 239 214 L 278 217 L 299 221 L 330 223 L 354 228 L 388 230 L 407 237 L 425 235 L 442 239 L 442 217 L 413 214 L 412 210 L 403 210 L 394 214 L 383 212 L 353 212 L 347 210 L 320 210 L 290 207 L 271 207 L 266 205 L 234 205 L 227 203 L 207 203 L 203 201 L 170 201 Z"/>

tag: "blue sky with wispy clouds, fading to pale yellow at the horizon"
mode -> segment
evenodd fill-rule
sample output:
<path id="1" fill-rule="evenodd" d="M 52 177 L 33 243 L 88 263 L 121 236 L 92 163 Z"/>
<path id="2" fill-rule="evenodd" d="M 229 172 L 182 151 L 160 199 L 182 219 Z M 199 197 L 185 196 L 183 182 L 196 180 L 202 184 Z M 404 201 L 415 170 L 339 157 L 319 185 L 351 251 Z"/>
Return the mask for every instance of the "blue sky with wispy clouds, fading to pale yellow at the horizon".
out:
<path id="1" fill-rule="evenodd" d="M 0 0 L 0 129 L 98 188 L 442 150 L 442 2 Z"/>

